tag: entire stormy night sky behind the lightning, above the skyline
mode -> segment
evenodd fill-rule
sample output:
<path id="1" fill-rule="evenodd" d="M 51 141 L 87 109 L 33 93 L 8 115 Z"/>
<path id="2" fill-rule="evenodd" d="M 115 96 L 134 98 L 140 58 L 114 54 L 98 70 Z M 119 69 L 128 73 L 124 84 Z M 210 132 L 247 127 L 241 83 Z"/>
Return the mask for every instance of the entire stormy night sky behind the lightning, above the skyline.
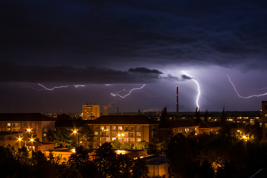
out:
<path id="1" fill-rule="evenodd" d="M 176 111 L 177 85 L 195 111 L 196 82 L 200 111 L 267 100 L 236 93 L 267 93 L 266 1 L 8 0 L 0 19 L 0 112 Z"/>

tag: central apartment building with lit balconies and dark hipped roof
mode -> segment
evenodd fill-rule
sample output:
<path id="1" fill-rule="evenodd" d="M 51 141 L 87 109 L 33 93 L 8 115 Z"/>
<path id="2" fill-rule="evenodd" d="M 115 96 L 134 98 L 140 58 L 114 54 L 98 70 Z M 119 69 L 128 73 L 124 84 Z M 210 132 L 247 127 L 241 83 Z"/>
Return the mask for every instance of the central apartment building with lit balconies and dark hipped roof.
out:
<path id="1" fill-rule="evenodd" d="M 103 144 L 118 139 L 135 147 L 137 142 L 158 141 L 158 123 L 143 115 L 104 115 L 90 122 L 95 143 Z"/>

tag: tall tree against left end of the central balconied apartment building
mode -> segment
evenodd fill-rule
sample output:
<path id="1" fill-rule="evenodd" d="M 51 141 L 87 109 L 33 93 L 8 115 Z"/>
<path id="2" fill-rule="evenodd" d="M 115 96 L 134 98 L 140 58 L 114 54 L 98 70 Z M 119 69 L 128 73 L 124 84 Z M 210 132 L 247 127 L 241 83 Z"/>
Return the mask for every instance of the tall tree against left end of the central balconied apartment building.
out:
<path id="1" fill-rule="evenodd" d="M 80 137 L 80 142 L 82 142 L 80 145 L 82 145 L 84 148 L 92 148 L 95 134 L 89 125 L 84 125 L 80 131 L 80 134 L 82 135 Z"/>

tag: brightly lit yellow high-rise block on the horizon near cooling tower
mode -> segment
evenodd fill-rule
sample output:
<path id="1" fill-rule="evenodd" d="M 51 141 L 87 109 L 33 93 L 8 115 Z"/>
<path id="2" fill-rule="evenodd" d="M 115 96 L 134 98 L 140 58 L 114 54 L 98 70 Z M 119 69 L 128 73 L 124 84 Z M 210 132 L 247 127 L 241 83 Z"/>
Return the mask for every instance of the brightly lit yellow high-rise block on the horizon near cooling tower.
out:
<path id="1" fill-rule="evenodd" d="M 82 119 L 94 120 L 100 116 L 100 105 L 86 104 L 82 105 Z"/>

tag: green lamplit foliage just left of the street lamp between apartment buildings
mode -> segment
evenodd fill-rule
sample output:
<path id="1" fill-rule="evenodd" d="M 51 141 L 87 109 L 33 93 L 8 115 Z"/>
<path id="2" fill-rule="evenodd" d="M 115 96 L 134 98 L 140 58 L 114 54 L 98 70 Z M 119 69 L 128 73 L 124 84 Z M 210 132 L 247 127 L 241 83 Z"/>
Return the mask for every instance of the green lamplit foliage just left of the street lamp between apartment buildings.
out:
<path id="1" fill-rule="evenodd" d="M 70 147 L 76 142 L 76 136 L 72 131 L 60 128 L 54 133 L 55 147 Z"/>

